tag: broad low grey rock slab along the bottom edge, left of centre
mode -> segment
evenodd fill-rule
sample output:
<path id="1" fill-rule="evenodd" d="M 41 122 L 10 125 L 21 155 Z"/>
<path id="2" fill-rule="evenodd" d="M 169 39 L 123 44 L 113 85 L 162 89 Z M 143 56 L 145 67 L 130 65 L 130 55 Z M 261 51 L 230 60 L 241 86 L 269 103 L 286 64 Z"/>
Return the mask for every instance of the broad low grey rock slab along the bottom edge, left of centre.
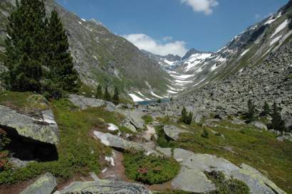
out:
<path id="1" fill-rule="evenodd" d="M 152 194 L 150 190 L 135 183 L 113 180 L 75 182 L 60 191 L 61 194 Z"/>

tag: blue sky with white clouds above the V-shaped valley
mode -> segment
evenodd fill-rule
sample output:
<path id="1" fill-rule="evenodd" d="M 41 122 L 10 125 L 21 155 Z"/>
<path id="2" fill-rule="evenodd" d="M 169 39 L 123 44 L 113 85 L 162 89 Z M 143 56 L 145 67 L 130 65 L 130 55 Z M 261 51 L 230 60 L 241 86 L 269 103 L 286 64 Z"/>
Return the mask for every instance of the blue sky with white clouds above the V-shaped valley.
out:
<path id="1" fill-rule="evenodd" d="M 183 55 L 216 51 L 288 0 L 57 0 L 81 18 L 95 18 L 138 48 Z"/>

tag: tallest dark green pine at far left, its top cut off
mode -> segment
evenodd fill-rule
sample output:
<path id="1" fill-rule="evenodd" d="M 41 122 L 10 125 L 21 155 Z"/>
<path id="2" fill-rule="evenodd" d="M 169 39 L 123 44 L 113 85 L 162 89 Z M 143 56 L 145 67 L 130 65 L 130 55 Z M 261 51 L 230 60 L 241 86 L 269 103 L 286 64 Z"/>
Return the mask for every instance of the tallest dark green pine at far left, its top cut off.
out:
<path id="1" fill-rule="evenodd" d="M 14 91 L 40 91 L 46 29 L 43 1 L 16 1 L 6 26 L 6 85 Z"/>

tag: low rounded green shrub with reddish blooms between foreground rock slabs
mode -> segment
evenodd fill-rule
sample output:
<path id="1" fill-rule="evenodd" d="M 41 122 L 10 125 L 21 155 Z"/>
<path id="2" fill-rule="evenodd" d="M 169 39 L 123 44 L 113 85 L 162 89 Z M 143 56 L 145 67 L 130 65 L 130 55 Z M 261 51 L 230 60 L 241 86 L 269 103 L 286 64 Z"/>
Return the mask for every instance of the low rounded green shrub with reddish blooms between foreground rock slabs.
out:
<path id="1" fill-rule="evenodd" d="M 165 183 L 179 171 L 179 164 L 173 158 L 145 156 L 142 152 L 125 153 L 123 163 L 128 178 L 149 185 Z"/>

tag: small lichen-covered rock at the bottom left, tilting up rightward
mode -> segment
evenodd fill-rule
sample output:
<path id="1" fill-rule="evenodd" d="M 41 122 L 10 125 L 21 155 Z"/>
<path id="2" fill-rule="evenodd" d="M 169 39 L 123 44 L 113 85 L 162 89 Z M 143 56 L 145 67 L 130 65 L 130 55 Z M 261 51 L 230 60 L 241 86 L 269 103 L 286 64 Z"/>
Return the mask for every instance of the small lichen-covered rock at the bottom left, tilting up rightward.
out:
<path id="1" fill-rule="evenodd" d="M 56 178 L 51 173 L 46 173 L 32 185 L 29 185 L 21 194 L 51 194 L 56 187 Z"/>

